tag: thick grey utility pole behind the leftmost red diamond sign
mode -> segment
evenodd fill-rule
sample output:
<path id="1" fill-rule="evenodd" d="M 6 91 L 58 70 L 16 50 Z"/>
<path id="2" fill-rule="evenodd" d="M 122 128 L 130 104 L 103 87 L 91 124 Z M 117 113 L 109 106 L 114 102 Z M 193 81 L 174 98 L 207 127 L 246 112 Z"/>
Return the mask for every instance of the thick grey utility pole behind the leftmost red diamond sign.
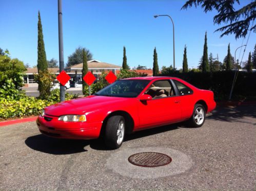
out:
<path id="1" fill-rule="evenodd" d="M 64 53 L 63 53 L 63 27 L 62 27 L 62 0 L 58 0 L 58 55 L 60 62 L 60 73 L 64 70 Z M 61 101 L 65 101 L 65 87 L 60 87 Z"/>

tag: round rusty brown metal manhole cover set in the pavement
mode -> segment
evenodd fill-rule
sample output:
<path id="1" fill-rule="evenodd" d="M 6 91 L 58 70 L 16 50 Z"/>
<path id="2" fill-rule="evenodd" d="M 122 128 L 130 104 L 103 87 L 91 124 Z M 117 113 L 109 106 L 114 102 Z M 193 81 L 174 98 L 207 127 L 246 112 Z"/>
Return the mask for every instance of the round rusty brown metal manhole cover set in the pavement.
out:
<path id="1" fill-rule="evenodd" d="M 156 167 L 169 164 L 171 157 L 162 153 L 144 152 L 131 155 L 128 161 L 137 166 Z"/>

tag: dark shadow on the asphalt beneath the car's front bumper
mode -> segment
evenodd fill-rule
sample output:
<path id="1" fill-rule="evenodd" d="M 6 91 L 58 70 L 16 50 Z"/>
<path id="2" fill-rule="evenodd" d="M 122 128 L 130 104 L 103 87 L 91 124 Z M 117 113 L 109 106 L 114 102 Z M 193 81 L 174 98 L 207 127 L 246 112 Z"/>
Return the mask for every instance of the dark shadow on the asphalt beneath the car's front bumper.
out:
<path id="1" fill-rule="evenodd" d="M 88 140 L 54 139 L 40 134 L 28 137 L 25 144 L 35 151 L 53 155 L 67 155 L 86 152 L 84 147 L 90 143 Z"/>

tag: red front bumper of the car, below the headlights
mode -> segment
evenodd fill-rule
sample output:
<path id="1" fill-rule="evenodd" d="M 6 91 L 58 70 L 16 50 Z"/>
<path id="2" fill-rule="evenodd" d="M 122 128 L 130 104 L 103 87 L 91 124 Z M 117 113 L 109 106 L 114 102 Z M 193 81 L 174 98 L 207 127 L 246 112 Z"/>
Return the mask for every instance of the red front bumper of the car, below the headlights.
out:
<path id="1" fill-rule="evenodd" d="M 100 136 L 102 122 L 68 122 L 59 121 L 58 117 L 45 115 L 36 120 L 39 131 L 54 138 L 96 139 Z"/>

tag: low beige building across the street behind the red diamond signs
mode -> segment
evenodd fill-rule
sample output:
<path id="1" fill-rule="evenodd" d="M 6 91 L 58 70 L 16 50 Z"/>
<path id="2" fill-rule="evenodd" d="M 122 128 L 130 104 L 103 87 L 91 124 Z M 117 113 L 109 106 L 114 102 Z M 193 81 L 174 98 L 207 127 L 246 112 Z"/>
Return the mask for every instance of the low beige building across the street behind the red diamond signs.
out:
<path id="1" fill-rule="evenodd" d="M 100 76 L 103 71 L 112 71 L 114 74 L 117 74 L 116 71 L 122 68 L 120 66 L 112 65 L 111 63 L 101 62 L 99 60 L 90 60 L 87 62 L 87 64 L 88 71 L 91 71 L 95 77 Z M 71 86 L 75 82 L 82 81 L 82 69 L 83 63 L 78 63 L 77 65 L 65 68 L 66 73 L 71 77 Z M 59 68 L 48 68 L 48 70 L 53 72 L 56 76 L 60 74 Z M 37 86 L 37 83 L 34 80 L 34 74 L 38 74 L 37 68 L 27 68 L 27 71 L 25 71 L 24 74 L 24 83 L 26 87 Z"/>

